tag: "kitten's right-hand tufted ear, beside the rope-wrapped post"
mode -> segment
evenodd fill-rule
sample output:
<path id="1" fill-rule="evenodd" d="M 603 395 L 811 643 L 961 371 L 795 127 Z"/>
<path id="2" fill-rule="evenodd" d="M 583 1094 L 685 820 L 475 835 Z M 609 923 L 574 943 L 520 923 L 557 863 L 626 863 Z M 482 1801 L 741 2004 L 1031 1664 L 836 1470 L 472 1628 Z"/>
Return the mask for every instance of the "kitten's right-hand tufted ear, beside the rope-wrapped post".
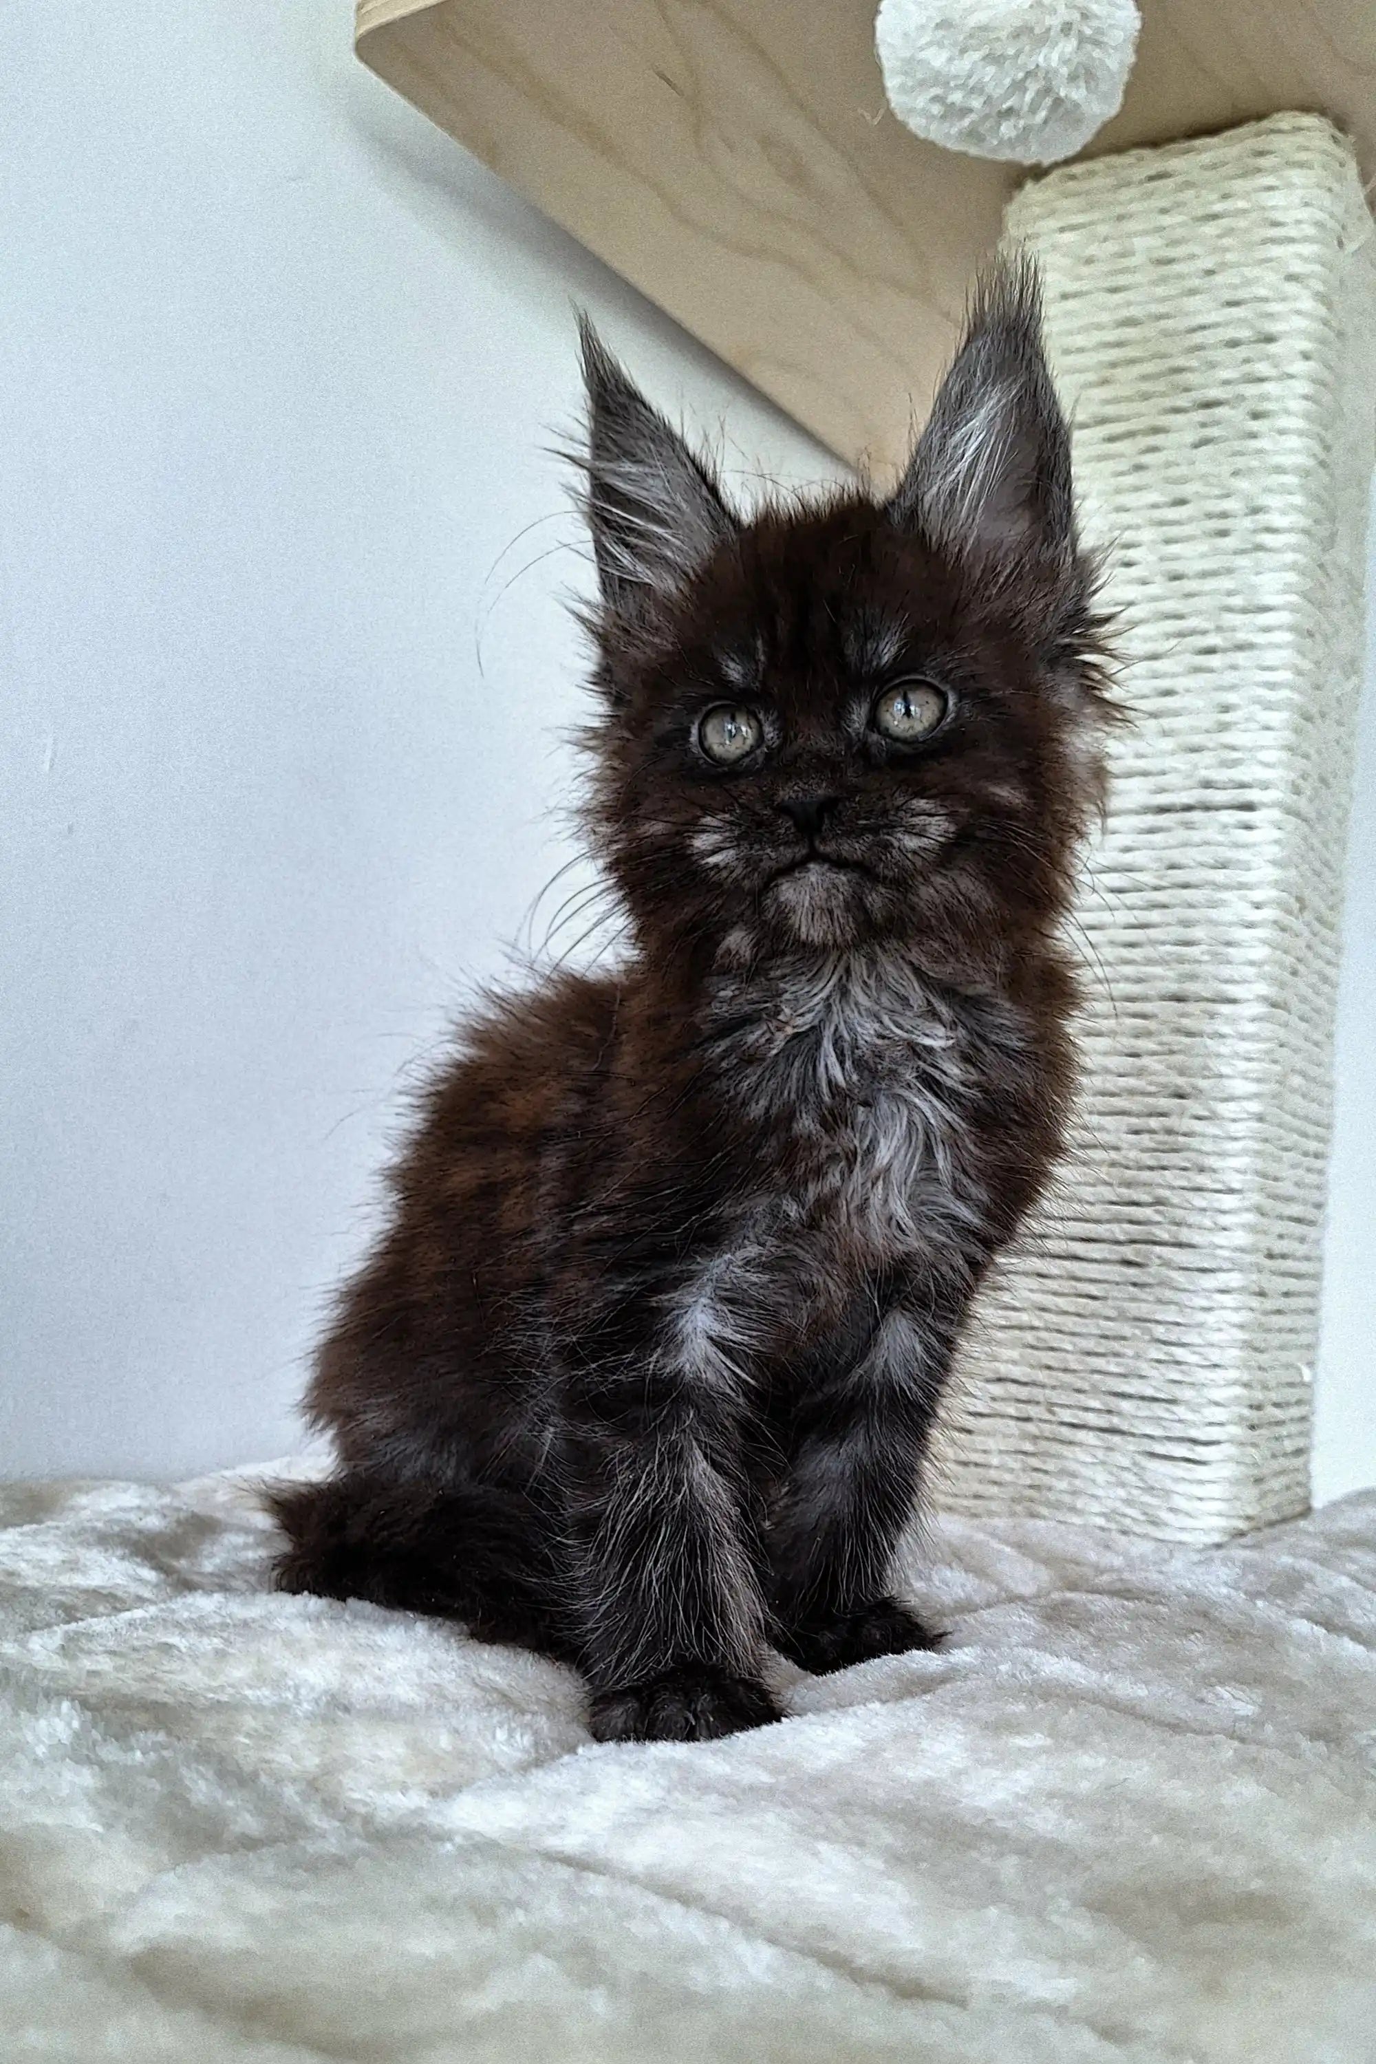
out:
<path id="1" fill-rule="evenodd" d="M 1046 369 L 1029 258 L 998 258 L 980 275 L 889 514 L 955 555 L 1073 574 L 1071 438 Z"/>

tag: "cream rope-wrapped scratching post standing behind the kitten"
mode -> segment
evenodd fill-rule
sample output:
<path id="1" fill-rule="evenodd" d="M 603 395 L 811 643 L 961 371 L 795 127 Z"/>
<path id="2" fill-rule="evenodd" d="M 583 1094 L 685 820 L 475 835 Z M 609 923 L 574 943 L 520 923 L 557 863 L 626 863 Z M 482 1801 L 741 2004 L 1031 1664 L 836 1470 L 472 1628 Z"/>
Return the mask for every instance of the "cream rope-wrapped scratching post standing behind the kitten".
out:
<path id="1" fill-rule="evenodd" d="M 1110 547 L 1073 1160 L 972 1329 L 932 1494 L 1217 1542 L 1308 1505 L 1376 334 L 1316 116 L 1015 198 Z"/>

